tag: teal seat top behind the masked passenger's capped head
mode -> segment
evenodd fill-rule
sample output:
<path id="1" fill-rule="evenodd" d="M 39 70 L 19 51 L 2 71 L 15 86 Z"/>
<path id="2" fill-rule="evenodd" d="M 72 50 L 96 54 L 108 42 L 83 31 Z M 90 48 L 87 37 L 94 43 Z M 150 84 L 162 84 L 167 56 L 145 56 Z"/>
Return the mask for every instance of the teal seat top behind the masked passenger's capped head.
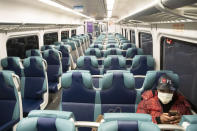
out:
<path id="1" fill-rule="evenodd" d="M 158 79 L 161 75 L 168 75 L 174 84 L 174 87 L 179 87 L 179 76 L 172 71 L 161 70 L 161 71 L 148 71 L 144 80 L 143 90 L 156 90 Z"/>

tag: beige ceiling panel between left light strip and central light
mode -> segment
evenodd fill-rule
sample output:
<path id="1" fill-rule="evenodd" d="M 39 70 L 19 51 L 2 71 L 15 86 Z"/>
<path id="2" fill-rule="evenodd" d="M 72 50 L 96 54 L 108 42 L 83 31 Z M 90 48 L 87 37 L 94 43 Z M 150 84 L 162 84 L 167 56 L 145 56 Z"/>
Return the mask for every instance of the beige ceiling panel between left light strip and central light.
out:
<path id="1" fill-rule="evenodd" d="M 57 2 L 73 8 L 73 6 L 83 6 L 83 14 L 95 19 L 103 19 L 107 16 L 105 0 L 56 0 Z"/>

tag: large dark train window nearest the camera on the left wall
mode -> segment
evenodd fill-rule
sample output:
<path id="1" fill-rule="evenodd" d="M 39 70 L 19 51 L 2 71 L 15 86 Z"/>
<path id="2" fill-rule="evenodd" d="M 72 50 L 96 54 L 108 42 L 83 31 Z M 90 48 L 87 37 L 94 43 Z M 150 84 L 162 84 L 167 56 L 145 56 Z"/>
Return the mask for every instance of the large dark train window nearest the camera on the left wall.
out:
<path id="1" fill-rule="evenodd" d="M 25 52 L 29 49 L 38 49 L 38 36 L 23 36 L 8 39 L 6 43 L 7 56 L 25 58 Z"/>

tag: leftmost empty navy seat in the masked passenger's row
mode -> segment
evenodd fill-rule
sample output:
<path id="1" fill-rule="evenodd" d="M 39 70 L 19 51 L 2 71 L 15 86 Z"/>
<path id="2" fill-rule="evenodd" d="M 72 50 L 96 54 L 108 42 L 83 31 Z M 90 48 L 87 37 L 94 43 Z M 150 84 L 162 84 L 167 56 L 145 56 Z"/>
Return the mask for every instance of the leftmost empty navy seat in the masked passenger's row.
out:
<path id="1" fill-rule="evenodd" d="M 62 75 L 61 109 L 71 111 L 77 121 L 94 121 L 96 91 L 88 72 L 74 71 Z"/>

